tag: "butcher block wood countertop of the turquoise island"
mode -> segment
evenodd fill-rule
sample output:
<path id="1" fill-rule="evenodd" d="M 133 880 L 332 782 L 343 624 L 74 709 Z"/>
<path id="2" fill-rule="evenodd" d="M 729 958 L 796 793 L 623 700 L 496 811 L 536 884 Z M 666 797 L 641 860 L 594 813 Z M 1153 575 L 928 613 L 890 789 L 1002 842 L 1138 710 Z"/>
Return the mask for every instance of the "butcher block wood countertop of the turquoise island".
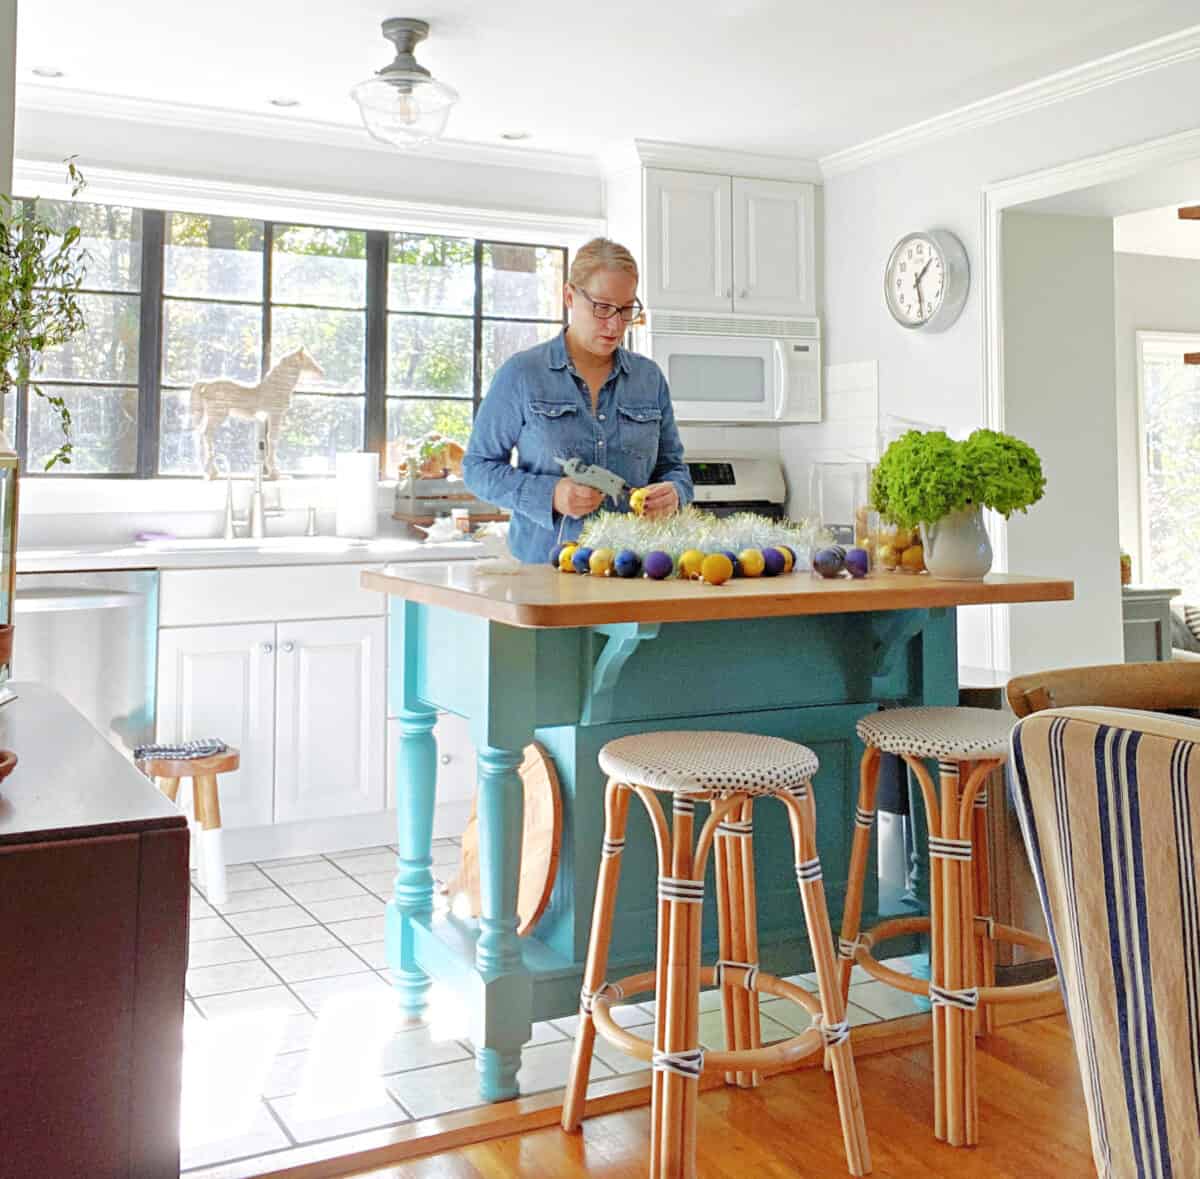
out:
<path id="1" fill-rule="evenodd" d="M 613 622 L 710 622 L 790 615 L 918 610 L 1019 602 L 1069 602 L 1074 582 L 990 574 L 983 581 L 943 581 L 926 573 L 872 574 L 860 581 L 809 573 L 738 577 L 722 586 L 643 577 L 592 577 L 524 565 L 490 573 L 487 562 L 386 565 L 362 574 L 368 590 L 476 615 L 512 627 L 594 627 Z"/>

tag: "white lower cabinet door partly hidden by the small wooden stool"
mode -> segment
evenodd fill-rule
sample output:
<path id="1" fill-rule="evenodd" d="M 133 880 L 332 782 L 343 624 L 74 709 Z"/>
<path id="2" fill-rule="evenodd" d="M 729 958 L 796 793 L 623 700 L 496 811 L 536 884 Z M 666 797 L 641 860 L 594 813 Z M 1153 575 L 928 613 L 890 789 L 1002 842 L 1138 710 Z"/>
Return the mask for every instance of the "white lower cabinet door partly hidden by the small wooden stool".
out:
<path id="1" fill-rule="evenodd" d="M 158 741 L 220 737 L 241 750 L 221 776 L 221 822 L 271 821 L 275 780 L 275 627 L 179 627 L 158 633 Z"/>

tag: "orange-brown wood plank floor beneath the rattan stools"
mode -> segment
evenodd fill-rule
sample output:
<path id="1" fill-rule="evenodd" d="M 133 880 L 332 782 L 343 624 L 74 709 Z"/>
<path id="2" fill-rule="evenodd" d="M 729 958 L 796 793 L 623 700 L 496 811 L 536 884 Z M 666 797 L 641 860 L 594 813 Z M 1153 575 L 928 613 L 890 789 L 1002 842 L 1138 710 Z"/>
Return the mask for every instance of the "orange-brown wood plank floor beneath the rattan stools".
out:
<path id="1" fill-rule="evenodd" d="M 928 1045 L 858 1061 L 877 1179 L 1086 1179 L 1094 1175 L 1079 1075 L 1061 1016 L 1003 1028 L 980 1041 L 982 1142 L 956 1150 L 932 1135 Z M 592 1118 L 582 1135 L 557 1127 L 464 1147 L 371 1179 L 640 1179 L 649 1111 Z M 786 1073 L 757 1090 L 700 1099 L 702 1179 L 832 1179 L 845 1175 L 833 1082 L 820 1070 Z"/>

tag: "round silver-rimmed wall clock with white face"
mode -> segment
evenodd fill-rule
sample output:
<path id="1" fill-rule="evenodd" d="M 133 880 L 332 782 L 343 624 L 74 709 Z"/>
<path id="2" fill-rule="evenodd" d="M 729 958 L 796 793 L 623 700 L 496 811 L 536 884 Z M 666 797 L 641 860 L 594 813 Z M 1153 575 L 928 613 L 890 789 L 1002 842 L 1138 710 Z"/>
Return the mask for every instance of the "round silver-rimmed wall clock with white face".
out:
<path id="1" fill-rule="evenodd" d="M 949 229 L 905 234 L 883 270 L 883 295 L 902 328 L 944 331 L 962 311 L 971 267 Z"/>

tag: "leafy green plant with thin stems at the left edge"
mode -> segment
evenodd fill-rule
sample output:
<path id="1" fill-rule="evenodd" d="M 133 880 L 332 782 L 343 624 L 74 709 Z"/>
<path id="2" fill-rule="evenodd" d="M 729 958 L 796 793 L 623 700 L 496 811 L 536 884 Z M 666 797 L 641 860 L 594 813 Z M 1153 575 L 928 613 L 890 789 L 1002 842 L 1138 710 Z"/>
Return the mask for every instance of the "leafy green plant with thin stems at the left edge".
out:
<path id="1" fill-rule="evenodd" d="M 67 160 L 71 196 L 84 179 Z M 46 463 L 71 462 L 71 409 L 36 381 L 42 353 L 66 343 L 84 328 L 79 301 L 88 252 L 79 227 L 59 231 L 41 216 L 36 198 L 14 201 L 0 193 L 0 399 L 20 385 L 44 397 L 59 415 L 62 444 Z M 0 401 L 4 405 L 4 401 Z"/>

